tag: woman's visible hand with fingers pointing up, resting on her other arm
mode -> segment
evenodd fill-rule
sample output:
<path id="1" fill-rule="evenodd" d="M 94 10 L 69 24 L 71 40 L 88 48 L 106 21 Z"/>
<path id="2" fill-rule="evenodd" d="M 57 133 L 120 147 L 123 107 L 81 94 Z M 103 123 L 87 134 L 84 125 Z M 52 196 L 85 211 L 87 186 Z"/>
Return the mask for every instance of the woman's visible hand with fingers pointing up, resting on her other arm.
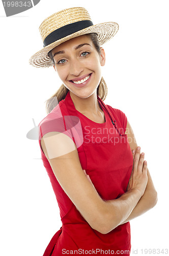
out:
<path id="1" fill-rule="evenodd" d="M 144 195 L 147 186 L 147 162 L 144 161 L 145 154 L 140 154 L 140 147 L 136 148 L 136 151 L 132 151 L 133 154 L 133 168 L 130 176 L 130 180 L 127 186 L 127 191 L 131 189 L 137 189 L 140 191 L 141 196 Z"/>

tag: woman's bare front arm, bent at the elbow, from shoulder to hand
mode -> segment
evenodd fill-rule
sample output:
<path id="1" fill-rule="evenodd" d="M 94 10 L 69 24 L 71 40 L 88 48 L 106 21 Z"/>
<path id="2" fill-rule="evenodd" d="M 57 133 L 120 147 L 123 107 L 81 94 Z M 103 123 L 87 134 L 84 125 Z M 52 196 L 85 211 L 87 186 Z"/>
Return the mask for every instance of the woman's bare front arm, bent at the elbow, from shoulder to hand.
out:
<path id="1" fill-rule="evenodd" d="M 108 233 L 122 224 L 144 194 L 147 166 L 143 167 L 143 158 L 140 159 L 142 167 L 136 168 L 135 185 L 120 198 L 104 201 L 83 172 L 77 148 L 67 135 L 47 133 L 41 139 L 41 147 L 65 193 L 89 225 L 101 233 Z"/>

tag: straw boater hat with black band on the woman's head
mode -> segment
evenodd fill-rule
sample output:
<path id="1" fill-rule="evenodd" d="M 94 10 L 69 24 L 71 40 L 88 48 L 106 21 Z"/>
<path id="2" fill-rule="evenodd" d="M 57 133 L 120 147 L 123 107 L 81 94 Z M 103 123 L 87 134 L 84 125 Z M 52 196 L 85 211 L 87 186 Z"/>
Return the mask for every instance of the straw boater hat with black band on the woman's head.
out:
<path id="1" fill-rule="evenodd" d="M 29 60 L 37 68 L 53 66 L 48 52 L 71 38 L 89 33 L 97 33 L 100 45 L 112 38 L 118 31 L 115 22 L 93 25 L 88 11 L 82 7 L 65 9 L 46 18 L 39 27 L 43 49 Z"/>

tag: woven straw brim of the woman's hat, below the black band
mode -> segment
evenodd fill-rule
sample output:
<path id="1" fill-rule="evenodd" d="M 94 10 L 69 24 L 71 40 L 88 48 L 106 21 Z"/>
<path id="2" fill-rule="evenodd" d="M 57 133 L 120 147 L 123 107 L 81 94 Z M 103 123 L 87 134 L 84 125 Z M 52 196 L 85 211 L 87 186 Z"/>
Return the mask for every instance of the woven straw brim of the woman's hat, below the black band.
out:
<path id="1" fill-rule="evenodd" d="M 109 39 L 111 39 L 119 29 L 119 25 L 115 22 L 107 22 L 107 23 L 100 23 L 97 25 L 90 26 L 86 29 L 82 29 L 77 31 L 71 35 L 61 38 L 53 42 L 52 44 L 44 47 L 39 52 L 35 53 L 29 60 L 30 65 L 36 68 L 48 68 L 53 66 L 52 60 L 48 56 L 48 52 L 51 51 L 54 47 L 59 46 L 63 42 L 70 40 L 74 37 L 85 35 L 89 33 L 97 33 L 100 45 L 103 45 Z"/>

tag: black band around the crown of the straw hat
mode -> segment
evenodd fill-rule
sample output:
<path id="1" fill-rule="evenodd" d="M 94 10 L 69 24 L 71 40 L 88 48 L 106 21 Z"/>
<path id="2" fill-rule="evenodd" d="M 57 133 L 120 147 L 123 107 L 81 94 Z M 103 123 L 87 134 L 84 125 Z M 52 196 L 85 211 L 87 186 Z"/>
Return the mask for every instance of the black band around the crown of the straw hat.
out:
<path id="1" fill-rule="evenodd" d="M 80 20 L 80 22 L 71 23 L 65 25 L 57 30 L 51 32 L 43 41 L 43 47 L 46 47 L 52 42 L 55 42 L 65 36 L 71 35 L 79 30 L 86 29 L 90 26 L 93 26 L 93 22 L 91 20 Z"/>

